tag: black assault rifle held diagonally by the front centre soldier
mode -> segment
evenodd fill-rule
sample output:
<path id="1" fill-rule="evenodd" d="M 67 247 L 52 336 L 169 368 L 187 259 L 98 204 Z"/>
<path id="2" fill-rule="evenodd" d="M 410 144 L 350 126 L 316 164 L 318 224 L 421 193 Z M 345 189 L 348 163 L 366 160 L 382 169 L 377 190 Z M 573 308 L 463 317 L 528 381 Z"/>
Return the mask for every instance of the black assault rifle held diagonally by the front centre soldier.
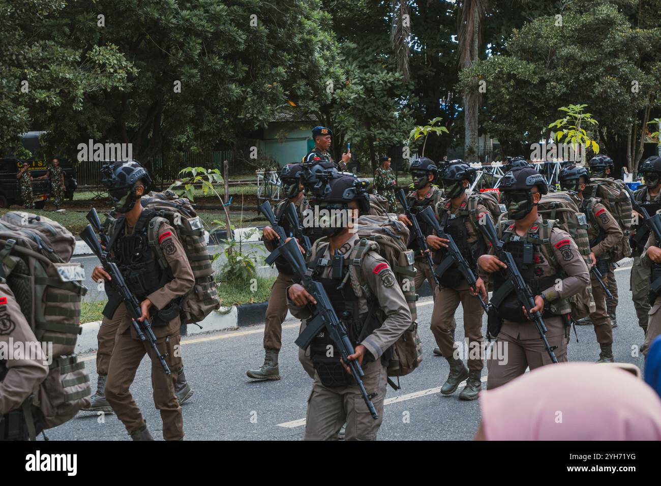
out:
<path id="1" fill-rule="evenodd" d="M 316 305 L 310 305 L 311 319 L 309 319 L 307 327 L 305 327 L 298 339 L 296 339 L 295 344 L 301 349 L 307 349 L 312 339 L 323 331 L 323 329 L 326 329 L 333 343 L 335 343 L 336 350 L 340 352 L 342 361 L 350 368 L 351 374 L 360 388 L 360 394 L 363 395 L 363 399 L 368 406 L 369 413 L 374 420 L 377 420 L 379 415 L 371 401 L 372 397 L 368 395 L 363 384 L 362 378 L 365 376 L 365 373 L 358 361 L 349 360 L 349 356 L 355 352 L 354 345 L 351 344 L 344 324 L 338 319 L 326 289 L 321 283 L 313 280 L 312 273 L 307 270 L 307 266 L 305 265 L 303 253 L 301 253 L 301 249 L 294 238 L 289 239 L 286 243 L 282 239 L 278 242 L 278 249 L 280 250 L 280 255 L 290 264 L 293 270 L 293 280 L 300 282 L 305 290 L 317 301 Z"/>

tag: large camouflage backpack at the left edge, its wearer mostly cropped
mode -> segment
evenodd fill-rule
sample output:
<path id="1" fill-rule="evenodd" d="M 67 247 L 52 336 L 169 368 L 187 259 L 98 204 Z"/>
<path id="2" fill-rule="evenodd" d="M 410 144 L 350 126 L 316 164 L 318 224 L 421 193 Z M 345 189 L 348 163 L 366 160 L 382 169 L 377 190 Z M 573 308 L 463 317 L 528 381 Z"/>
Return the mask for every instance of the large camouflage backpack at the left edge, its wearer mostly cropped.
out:
<path id="1" fill-rule="evenodd" d="M 70 261 L 74 249 L 73 235 L 44 216 L 8 212 L 0 218 L 0 276 L 52 358 L 46 380 L 22 405 L 33 440 L 41 428 L 65 423 L 89 407 L 89 376 L 73 352 L 87 292 L 83 267 Z"/>

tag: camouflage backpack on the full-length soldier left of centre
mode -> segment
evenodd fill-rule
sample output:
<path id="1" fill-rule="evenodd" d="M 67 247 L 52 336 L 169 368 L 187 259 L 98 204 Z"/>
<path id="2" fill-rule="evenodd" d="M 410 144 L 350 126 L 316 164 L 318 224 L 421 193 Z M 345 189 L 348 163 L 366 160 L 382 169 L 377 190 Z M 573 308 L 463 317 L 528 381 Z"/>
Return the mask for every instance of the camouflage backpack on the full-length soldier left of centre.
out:
<path id="1" fill-rule="evenodd" d="M 158 244 L 158 233 L 161 224 L 168 223 L 184 247 L 188 263 L 193 270 L 195 285 L 184 296 L 181 303 L 181 323 L 191 324 L 202 321 L 211 311 L 220 307 L 218 292 L 215 287 L 212 257 L 204 241 L 202 220 L 195 212 L 192 204 L 186 198 L 180 198 L 172 190 L 149 192 L 141 198 L 145 209 L 155 210 L 158 214 L 147 227 L 147 240 L 155 249 L 159 264 L 168 266 L 167 259 Z"/>

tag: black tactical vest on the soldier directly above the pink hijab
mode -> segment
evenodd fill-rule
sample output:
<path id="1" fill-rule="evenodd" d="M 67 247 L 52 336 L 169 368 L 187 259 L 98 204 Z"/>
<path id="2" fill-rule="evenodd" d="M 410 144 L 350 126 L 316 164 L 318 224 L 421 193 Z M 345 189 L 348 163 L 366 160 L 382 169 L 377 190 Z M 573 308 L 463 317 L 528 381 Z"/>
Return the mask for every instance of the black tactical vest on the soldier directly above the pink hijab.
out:
<path id="1" fill-rule="evenodd" d="M 533 225 L 531 229 L 537 229 Z M 555 260 L 553 249 L 551 248 L 551 231 L 553 221 L 544 220 L 539 226 L 539 233 L 529 232 L 522 237 L 512 231 L 512 226 L 508 227 L 502 235 L 500 241 L 505 251 L 512 253 L 516 266 L 521 272 L 524 281 L 527 282 L 533 296 L 538 296 L 547 288 L 555 285 L 558 278 L 566 276 L 561 270 L 561 266 Z M 555 275 L 543 275 L 543 268 L 537 264 L 535 254 L 541 255 L 549 265 L 555 269 Z M 512 322 L 528 322 L 522 311 L 522 305 L 516 298 L 516 292 L 512 290 L 507 295 L 502 295 L 498 289 L 505 288 L 506 278 L 503 272 L 494 273 L 494 294 L 491 298 L 492 304 L 498 309 L 498 314 L 502 319 Z M 567 299 L 559 299 L 553 303 L 547 304 L 543 310 L 543 317 L 551 315 L 565 315 L 570 313 L 571 306 Z"/>

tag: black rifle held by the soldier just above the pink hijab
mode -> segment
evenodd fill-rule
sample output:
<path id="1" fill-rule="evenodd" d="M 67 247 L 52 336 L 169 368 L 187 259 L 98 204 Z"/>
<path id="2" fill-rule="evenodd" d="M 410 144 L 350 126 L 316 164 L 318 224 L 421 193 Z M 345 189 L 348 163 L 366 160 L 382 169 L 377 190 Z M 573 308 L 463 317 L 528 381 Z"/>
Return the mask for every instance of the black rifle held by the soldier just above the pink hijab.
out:
<path id="1" fill-rule="evenodd" d="M 488 239 L 488 241 L 491 243 L 491 246 L 494 249 L 494 253 L 496 253 L 496 257 L 498 257 L 498 259 L 507 266 L 506 268 L 502 268 L 502 270 L 500 270 L 505 272 L 507 280 L 504 284 L 504 288 L 500 288 L 498 292 L 502 292 L 502 295 L 504 296 L 509 295 L 510 292 L 516 292 L 516 298 L 525 308 L 528 319 L 535 323 L 537 332 L 539 332 L 539 337 L 541 337 L 541 340 L 544 343 L 544 347 L 549 353 L 549 356 L 551 356 L 551 361 L 557 363 L 558 358 L 556 358 L 555 352 L 553 352 L 557 346 L 553 346 L 552 348 L 551 344 L 549 344 L 549 340 L 546 339 L 547 329 L 543 319 L 541 318 L 541 312 L 531 311 L 531 309 L 535 307 L 535 296 L 533 296 L 529 286 L 525 283 L 524 277 L 514 262 L 512 253 L 503 249 L 502 241 L 498 240 L 498 234 L 496 233 L 494 223 L 490 218 L 487 218 L 486 215 L 483 216 L 483 220 L 484 222 L 481 221 L 477 227 L 479 227 L 480 231 L 483 232 L 486 239 Z"/>

